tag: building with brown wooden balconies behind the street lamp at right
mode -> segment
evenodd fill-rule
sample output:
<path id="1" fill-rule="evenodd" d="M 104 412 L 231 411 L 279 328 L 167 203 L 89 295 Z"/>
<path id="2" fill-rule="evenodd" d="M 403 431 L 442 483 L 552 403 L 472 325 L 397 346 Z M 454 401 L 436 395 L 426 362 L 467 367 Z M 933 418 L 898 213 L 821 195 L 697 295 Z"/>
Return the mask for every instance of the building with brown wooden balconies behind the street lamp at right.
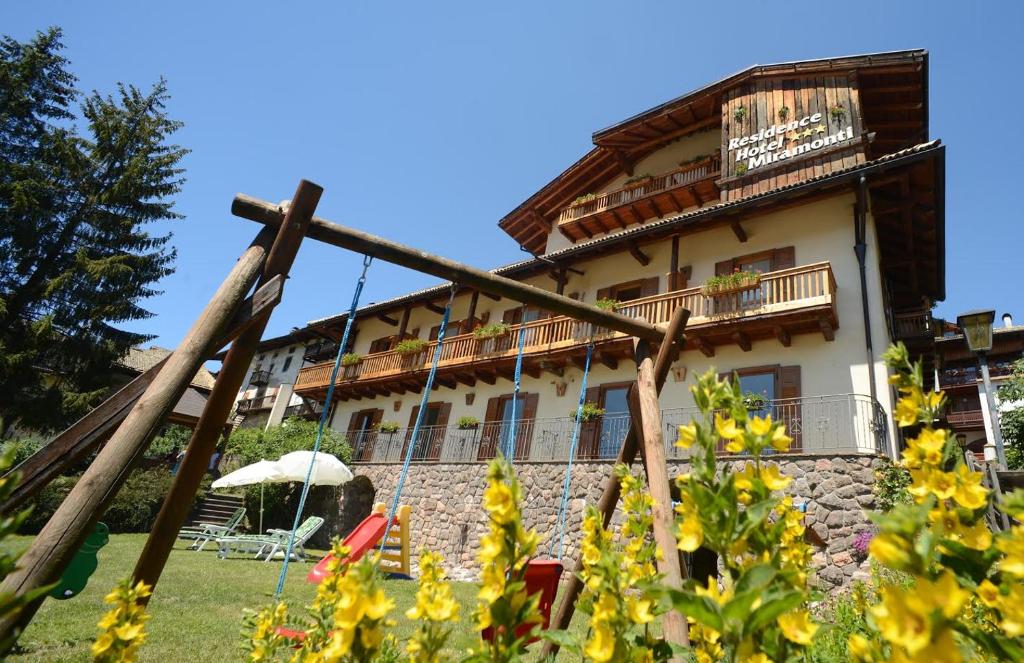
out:
<path id="1" fill-rule="evenodd" d="M 1013 373 L 1014 363 L 1024 358 L 1024 327 L 1015 327 L 1009 315 L 1002 320 L 1004 326 L 992 330 L 992 349 L 988 353 L 988 373 L 996 396 L 999 385 Z M 994 449 L 985 448 L 990 413 L 978 390 L 981 382 L 978 357 L 968 348 L 964 334 L 954 325 L 949 325 L 935 339 L 935 358 L 934 380 L 948 400 L 949 427 L 965 448 L 981 458 L 993 458 Z M 1000 406 L 1001 410 L 1006 404 Z"/>

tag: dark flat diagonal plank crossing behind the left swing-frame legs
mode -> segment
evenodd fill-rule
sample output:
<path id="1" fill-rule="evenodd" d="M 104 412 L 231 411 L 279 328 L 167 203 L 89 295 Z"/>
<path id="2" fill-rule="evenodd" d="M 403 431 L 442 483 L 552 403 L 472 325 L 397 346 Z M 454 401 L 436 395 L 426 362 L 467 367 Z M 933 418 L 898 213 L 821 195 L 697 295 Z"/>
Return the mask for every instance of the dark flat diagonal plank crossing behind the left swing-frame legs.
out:
<path id="1" fill-rule="evenodd" d="M 284 279 L 274 279 L 243 301 L 227 331 L 217 341 L 217 349 L 245 331 L 255 316 L 275 306 L 281 301 L 283 284 Z M 99 446 L 99 443 L 125 420 L 135 402 L 153 383 L 166 362 L 166 358 L 161 360 L 121 387 L 111 398 L 46 443 L 39 451 L 26 458 L 17 467 L 4 474 L 7 476 L 17 472 L 20 480 L 7 501 L 0 504 L 0 512 L 10 513 L 22 508 L 53 479 L 62 474 Z"/>

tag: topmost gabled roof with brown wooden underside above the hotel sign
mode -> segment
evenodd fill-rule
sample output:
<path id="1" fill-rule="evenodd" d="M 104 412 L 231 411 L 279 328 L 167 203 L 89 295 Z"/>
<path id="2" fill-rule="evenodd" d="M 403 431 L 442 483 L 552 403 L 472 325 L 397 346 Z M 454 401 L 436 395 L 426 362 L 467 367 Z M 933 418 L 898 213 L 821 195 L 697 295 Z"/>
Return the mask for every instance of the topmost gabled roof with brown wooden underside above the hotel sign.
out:
<path id="1" fill-rule="evenodd" d="M 825 59 L 757 65 L 648 109 L 593 134 L 595 148 L 512 210 L 498 225 L 524 249 L 544 251 L 553 221 L 582 194 L 608 183 L 632 164 L 672 140 L 721 126 L 722 94 L 764 77 L 854 73 L 873 154 L 884 155 L 928 139 L 928 52 L 901 50 Z M 881 118 L 896 114 L 897 122 Z"/>

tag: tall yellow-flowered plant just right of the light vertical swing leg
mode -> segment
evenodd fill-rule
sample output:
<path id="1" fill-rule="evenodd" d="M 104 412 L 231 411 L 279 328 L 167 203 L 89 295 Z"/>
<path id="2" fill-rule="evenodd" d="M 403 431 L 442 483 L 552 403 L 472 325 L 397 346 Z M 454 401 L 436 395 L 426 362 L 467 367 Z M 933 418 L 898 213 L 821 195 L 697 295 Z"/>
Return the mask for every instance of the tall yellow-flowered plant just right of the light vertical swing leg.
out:
<path id="1" fill-rule="evenodd" d="M 691 387 L 701 419 L 679 427 L 678 446 L 692 449 L 691 472 L 676 484 L 679 548 L 705 547 L 724 567 L 713 578 L 668 590 L 691 624 L 698 662 L 785 661 L 802 655 L 817 631 L 804 608 L 809 598 L 803 513 L 777 491 L 792 479 L 763 460 L 766 449 L 786 451 L 793 440 L 782 423 L 748 414 L 738 380 L 720 381 L 714 371 Z M 719 466 L 716 449 L 750 458 L 739 471 Z"/>

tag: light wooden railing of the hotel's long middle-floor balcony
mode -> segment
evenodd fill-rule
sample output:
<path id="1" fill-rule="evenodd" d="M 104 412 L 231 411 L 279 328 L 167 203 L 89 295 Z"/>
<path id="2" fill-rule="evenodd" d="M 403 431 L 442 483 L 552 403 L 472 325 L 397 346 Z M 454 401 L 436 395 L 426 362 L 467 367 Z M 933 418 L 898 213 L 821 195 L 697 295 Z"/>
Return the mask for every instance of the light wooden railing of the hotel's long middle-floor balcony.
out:
<path id="1" fill-rule="evenodd" d="M 652 323 L 667 323 L 672 312 L 680 306 L 690 310 L 687 333 L 709 333 L 723 323 L 736 323 L 750 318 L 801 312 L 835 305 L 836 281 L 828 262 L 817 262 L 765 274 L 757 286 L 733 292 L 706 296 L 699 288 L 677 290 L 660 295 L 634 299 L 618 308 L 629 318 L 643 318 Z M 834 312 L 833 312 L 834 313 Z M 564 316 L 513 325 L 508 334 L 478 339 L 473 334 L 446 337 L 438 363 L 440 368 L 487 362 L 514 357 L 520 329 L 525 330 L 523 353 L 546 354 L 591 341 L 603 342 L 624 338 L 618 332 L 595 328 Z M 814 329 L 818 329 L 814 324 Z M 425 371 L 433 360 L 437 341 L 431 341 L 415 354 L 397 350 L 374 353 L 362 357 L 358 364 L 344 367 L 339 383 L 371 380 Z M 333 363 L 307 366 L 299 371 L 296 390 L 324 388 L 331 379 Z"/>

